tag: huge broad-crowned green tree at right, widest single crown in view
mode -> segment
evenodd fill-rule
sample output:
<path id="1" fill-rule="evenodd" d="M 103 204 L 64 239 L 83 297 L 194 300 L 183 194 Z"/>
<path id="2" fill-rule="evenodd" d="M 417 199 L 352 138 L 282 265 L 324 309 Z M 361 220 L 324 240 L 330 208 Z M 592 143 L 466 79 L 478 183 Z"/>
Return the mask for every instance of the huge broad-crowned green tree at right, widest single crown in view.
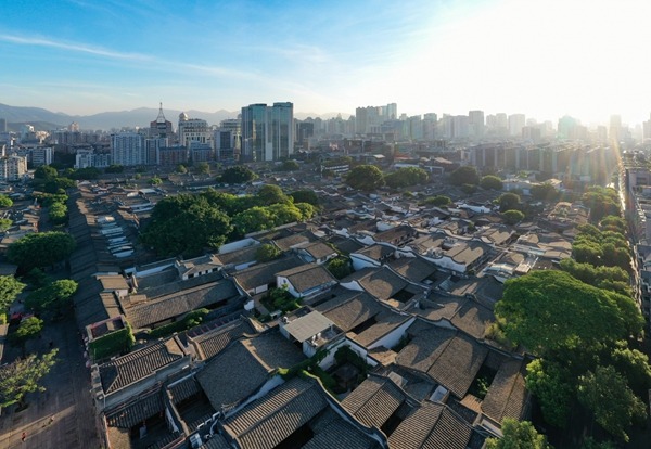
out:
<path id="1" fill-rule="evenodd" d="M 641 316 L 642 321 L 636 317 L 635 323 L 629 323 L 629 311 L 617 304 L 621 298 L 612 296 L 615 294 L 563 271 L 534 271 L 505 285 L 496 316 L 506 320 L 503 329 L 510 341 L 539 356 L 562 348 L 587 349 L 641 331 Z"/>

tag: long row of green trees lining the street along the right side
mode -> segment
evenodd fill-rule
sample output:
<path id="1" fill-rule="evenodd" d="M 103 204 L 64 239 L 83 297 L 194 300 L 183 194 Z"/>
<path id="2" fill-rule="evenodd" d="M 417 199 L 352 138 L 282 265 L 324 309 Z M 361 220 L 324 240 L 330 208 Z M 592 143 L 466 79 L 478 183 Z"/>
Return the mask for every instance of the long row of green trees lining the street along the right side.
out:
<path id="1" fill-rule="evenodd" d="M 587 195 L 599 227 L 578 228 L 574 258 L 560 271 L 508 281 L 495 312 L 503 335 L 539 357 L 526 385 L 549 424 L 565 428 L 572 411 L 583 411 L 627 441 L 628 428 L 646 418 L 640 398 L 651 387 L 649 360 L 635 349 L 644 321 L 629 286 L 626 222 L 601 215 L 618 213 L 616 197 L 602 189 Z"/>

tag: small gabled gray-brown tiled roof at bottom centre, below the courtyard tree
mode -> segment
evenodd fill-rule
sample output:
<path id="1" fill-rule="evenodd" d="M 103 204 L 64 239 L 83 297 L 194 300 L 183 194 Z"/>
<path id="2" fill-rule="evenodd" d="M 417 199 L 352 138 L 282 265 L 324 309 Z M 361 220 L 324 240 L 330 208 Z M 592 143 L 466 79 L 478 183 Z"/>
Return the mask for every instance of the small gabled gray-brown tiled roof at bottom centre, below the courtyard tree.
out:
<path id="1" fill-rule="evenodd" d="M 342 401 L 342 406 L 367 426 L 382 427 L 405 401 L 388 379 L 370 376 Z"/>

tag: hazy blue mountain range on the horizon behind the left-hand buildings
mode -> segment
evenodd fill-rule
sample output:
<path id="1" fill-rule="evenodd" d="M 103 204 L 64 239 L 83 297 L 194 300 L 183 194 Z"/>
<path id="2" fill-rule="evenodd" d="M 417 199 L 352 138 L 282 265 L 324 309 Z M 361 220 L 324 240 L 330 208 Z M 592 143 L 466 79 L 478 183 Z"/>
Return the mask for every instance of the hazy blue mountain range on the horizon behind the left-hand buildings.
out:
<path id="1" fill-rule="evenodd" d="M 171 121 L 175 127 L 178 123 L 179 114 L 182 111 L 166 110 L 163 108 L 165 118 Z M 190 118 L 202 118 L 208 123 L 208 125 L 219 125 L 219 123 L 226 118 L 237 118 L 239 111 L 226 111 L 219 110 L 217 112 L 208 113 L 202 111 L 184 111 Z M 79 128 L 82 130 L 105 130 L 120 129 L 124 127 L 149 127 L 150 121 L 153 121 L 158 116 L 158 110 L 152 107 L 139 107 L 131 111 L 115 111 L 115 112 L 103 112 L 92 115 L 68 115 L 61 112 L 51 112 L 41 107 L 24 107 L 24 106 L 10 106 L 8 104 L 0 103 L 0 118 L 7 119 L 10 131 L 18 131 L 22 125 L 29 124 L 35 127 L 37 131 L 51 131 L 53 129 L 67 127 L 73 121 L 79 124 Z M 328 114 L 307 114 L 307 113 L 295 113 L 294 117 L 298 119 L 305 119 L 307 117 L 320 117 L 322 119 L 329 119 L 336 117 L 337 113 Z M 342 114 L 342 117 L 348 118 L 349 114 Z"/>

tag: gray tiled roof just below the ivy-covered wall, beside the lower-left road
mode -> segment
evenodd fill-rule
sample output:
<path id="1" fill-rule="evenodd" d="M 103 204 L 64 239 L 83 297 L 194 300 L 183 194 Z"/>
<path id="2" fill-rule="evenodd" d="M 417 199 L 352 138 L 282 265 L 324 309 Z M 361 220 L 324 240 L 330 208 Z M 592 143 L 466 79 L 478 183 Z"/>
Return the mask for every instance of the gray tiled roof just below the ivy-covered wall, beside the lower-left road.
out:
<path id="1" fill-rule="evenodd" d="M 106 394 L 113 393 L 183 357 L 183 349 L 174 337 L 156 342 L 153 345 L 102 363 L 99 367 L 102 388 Z"/>

